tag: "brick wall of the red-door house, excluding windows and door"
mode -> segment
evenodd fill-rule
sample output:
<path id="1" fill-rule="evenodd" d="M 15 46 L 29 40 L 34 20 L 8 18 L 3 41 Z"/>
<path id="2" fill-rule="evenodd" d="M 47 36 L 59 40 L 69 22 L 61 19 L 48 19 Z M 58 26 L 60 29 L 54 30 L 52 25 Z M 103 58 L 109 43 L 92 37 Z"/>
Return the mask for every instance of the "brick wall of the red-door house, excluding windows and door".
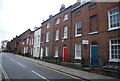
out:
<path id="1" fill-rule="evenodd" d="M 56 14 L 55 16 L 51 17 L 50 19 L 48 19 L 47 21 L 42 23 L 42 42 L 43 44 L 41 44 L 41 47 L 44 48 L 44 56 L 45 56 L 45 47 L 49 46 L 49 57 L 54 58 L 55 56 L 55 47 L 58 47 L 58 55 L 60 58 L 63 57 L 63 47 L 67 46 L 68 47 L 68 53 L 70 54 L 70 20 L 71 20 L 71 6 L 68 7 L 67 9 L 59 12 L 58 14 Z M 68 14 L 68 20 L 64 21 L 64 15 Z M 60 18 L 60 23 L 59 24 L 55 24 L 55 21 L 57 18 Z M 50 22 L 50 28 L 47 28 L 47 23 Z M 67 39 L 63 39 L 63 29 L 64 26 L 68 26 L 68 38 Z M 56 37 L 56 30 L 59 29 L 59 40 L 55 40 Z M 46 43 L 46 32 L 50 32 L 50 42 Z M 43 37 L 44 36 L 44 37 Z M 67 60 L 69 60 L 69 58 L 67 58 Z"/>

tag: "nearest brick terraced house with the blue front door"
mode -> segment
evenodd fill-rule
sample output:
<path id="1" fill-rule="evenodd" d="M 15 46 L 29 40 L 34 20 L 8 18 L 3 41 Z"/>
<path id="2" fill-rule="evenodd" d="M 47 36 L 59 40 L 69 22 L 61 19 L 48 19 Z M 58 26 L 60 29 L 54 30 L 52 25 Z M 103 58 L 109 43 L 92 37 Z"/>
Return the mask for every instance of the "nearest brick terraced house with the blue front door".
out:
<path id="1" fill-rule="evenodd" d="M 120 2 L 86 2 L 71 10 L 71 58 L 120 66 Z"/>

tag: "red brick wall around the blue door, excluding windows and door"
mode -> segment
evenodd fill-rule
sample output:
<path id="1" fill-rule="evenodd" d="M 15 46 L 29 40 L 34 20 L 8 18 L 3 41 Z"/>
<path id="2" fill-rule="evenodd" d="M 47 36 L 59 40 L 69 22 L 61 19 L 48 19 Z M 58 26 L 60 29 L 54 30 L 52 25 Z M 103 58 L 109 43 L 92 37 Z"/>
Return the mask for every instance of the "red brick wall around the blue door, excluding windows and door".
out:
<path id="1" fill-rule="evenodd" d="M 120 2 L 118 3 L 88 3 L 80 8 L 72 11 L 72 40 L 71 40 L 71 58 L 74 61 L 84 61 L 84 64 L 91 64 L 91 47 L 90 45 L 95 41 L 98 45 L 98 61 L 99 63 L 105 64 L 115 64 L 120 63 L 109 62 L 109 41 L 110 39 L 120 38 L 120 30 L 108 31 L 108 11 L 112 8 L 119 7 Z M 90 9 L 91 8 L 91 9 Z M 79 12 L 79 13 L 78 13 Z M 90 34 L 90 17 L 97 15 L 97 31 L 96 34 Z M 75 37 L 75 22 L 82 21 L 82 36 Z M 82 40 L 88 40 L 88 45 L 83 45 Z M 81 54 L 82 59 L 75 60 L 75 43 L 80 43 L 82 45 Z M 84 58 L 84 60 L 83 60 Z"/>

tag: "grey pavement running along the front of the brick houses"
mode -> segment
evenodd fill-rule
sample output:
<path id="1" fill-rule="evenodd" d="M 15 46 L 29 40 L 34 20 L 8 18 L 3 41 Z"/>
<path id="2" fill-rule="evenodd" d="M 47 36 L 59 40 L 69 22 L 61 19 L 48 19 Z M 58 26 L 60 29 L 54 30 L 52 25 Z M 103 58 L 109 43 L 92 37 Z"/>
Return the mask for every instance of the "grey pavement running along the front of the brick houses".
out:
<path id="1" fill-rule="evenodd" d="M 41 61 L 41 60 L 29 58 L 29 57 L 23 57 L 23 56 L 20 56 L 20 55 L 17 55 L 17 56 L 19 56 L 21 58 L 24 58 L 26 60 L 29 60 L 29 61 L 31 61 L 33 63 L 37 63 L 39 65 L 49 67 L 49 68 L 52 68 L 52 69 L 55 69 L 55 70 L 58 70 L 58 71 L 62 71 L 62 72 L 65 72 L 65 73 L 68 73 L 68 74 L 71 74 L 71 75 L 74 75 L 74 76 L 77 76 L 77 77 L 87 79 L 87 80 L 93 80 L 93 81 L 98 81 L 98 80 L 102 80 L 102 81 L 103 80 L 105 80 L 105 81 L 106 80 L 107 81 L 108 80 L 120 81 L 120 79 L 109 77 L 109 76 L 104 76 L 104 75 L 100 75 L 100 74 L 96 74 L 96 73 L 86 72 L 86 71 L 83 71 L 83 70 L 72 69 L 72 68 L 69 68 L 69 67 L 56 65 L 56 64 L 53 64 L 53 63 L 48 63 L 48 62 L 44 62 L 44 61 Z"/>

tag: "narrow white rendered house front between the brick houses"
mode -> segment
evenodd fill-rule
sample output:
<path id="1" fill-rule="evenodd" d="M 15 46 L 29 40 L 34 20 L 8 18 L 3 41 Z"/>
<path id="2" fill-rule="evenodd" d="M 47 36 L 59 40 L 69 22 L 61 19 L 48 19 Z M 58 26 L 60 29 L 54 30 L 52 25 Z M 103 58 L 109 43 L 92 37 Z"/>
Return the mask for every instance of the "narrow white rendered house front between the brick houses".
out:
<path id="1" fill-rule="evenodd" d="M 40 57 L 40 41 L 41 40 L 41 28 L 35 31 L 34 33 L 34 48 L 33 48 L 33 57 Z"/>

